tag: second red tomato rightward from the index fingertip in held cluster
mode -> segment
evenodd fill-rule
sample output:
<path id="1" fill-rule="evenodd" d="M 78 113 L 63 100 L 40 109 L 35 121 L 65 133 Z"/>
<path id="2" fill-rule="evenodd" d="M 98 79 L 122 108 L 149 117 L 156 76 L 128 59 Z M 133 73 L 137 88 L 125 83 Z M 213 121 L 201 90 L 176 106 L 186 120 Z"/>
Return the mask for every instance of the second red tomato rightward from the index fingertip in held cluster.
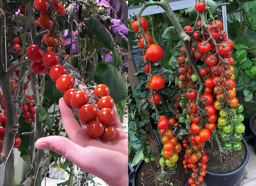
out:
<path id="1" fill-rule="evenodd" d="M 87 93 L 84 91 L 74 91 L 70 97 L 70 105 L 75 109 L 81 108 L 83 105 L 87 104 L 88 101 L 89 101 L 89 97 Z"/>

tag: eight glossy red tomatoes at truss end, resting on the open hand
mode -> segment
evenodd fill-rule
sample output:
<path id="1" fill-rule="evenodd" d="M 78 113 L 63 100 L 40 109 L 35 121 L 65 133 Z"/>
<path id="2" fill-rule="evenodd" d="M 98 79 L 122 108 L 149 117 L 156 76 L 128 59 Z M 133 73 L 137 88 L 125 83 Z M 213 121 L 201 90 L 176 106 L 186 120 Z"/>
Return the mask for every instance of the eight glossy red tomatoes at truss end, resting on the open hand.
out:
<path id="1" fill-rule="evenodd" d="M 116 114 L 112 110 L 115 103 L 109 96 L 109 89 L 106 85 L 99 84 L 93 90 L 93 95 L 100 98 L 97 107 L 88 104 L 88 94 L 78 89 L 66 90 L 63 98 L 68 106 L 78 109 L 78 118 L 82 122 L 89 123 L 86 128 L 88 136 L 92 138 L 101 137 L 105 141 L 114 140 L 116 129 L 111 125 L 116 121 Z M 95 120 L 97 117 L 98 120 Z"/>

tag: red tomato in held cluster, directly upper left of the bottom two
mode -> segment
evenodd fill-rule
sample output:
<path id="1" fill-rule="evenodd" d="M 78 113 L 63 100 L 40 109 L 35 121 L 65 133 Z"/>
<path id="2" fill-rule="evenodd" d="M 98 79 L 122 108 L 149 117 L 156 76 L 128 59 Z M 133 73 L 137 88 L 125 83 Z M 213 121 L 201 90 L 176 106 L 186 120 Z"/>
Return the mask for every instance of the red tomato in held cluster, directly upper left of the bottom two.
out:
<path id="1" fill-rule="evenodd" d="M 77 112 L 78 118 L 84 122 L 88 123 L 97 118 L 98 110 L 94 105 L 88 104 L 83 105 Z"/>

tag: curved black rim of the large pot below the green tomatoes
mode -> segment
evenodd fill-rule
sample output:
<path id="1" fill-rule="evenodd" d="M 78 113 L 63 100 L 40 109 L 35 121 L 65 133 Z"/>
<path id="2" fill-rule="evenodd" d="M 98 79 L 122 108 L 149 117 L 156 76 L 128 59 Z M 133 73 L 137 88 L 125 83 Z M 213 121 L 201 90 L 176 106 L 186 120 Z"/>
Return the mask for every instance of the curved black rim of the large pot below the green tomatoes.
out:
<path id="1" fill-rule="evenodd" d="M 211 175 L 214 175 L 214 176 L 224 177 L 224 176 L 231 176 L 233 174 L 236 174 L 236 173 L 242 171 L 244 169 L 244 167 L 246 166 L 246 164 L 248 163 L 249 155 L 250 155 L 249 146 L 246 143 L 246 141 L 244 140 L 244 138 L 242 139 L 242 142 L 244 143 L 244 146 L 245 146 L 245 149 L 246 149 L 246 157 L 244 159 L 244 163 L 240 167 L 238 167 L 236 170 L 233 170 L 229 173 L 214 173 L 214 172 L 211 172 L 211 171 L 206 169 L 206 174 L 211 174 Z"/>

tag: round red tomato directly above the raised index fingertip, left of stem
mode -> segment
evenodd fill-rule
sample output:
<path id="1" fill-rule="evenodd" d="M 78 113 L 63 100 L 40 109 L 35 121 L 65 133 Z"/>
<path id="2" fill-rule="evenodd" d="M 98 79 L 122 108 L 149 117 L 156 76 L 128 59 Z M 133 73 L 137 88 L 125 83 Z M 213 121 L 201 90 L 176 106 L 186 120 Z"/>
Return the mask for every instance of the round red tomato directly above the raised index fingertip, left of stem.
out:
<path id="1" fill-rule="evenodd" d="M 71 86 L 75 84 L 74 79 L 70 75 L 61 75 L 56 81 L 56 88 L 60 92 L 67 91 Z"/>

